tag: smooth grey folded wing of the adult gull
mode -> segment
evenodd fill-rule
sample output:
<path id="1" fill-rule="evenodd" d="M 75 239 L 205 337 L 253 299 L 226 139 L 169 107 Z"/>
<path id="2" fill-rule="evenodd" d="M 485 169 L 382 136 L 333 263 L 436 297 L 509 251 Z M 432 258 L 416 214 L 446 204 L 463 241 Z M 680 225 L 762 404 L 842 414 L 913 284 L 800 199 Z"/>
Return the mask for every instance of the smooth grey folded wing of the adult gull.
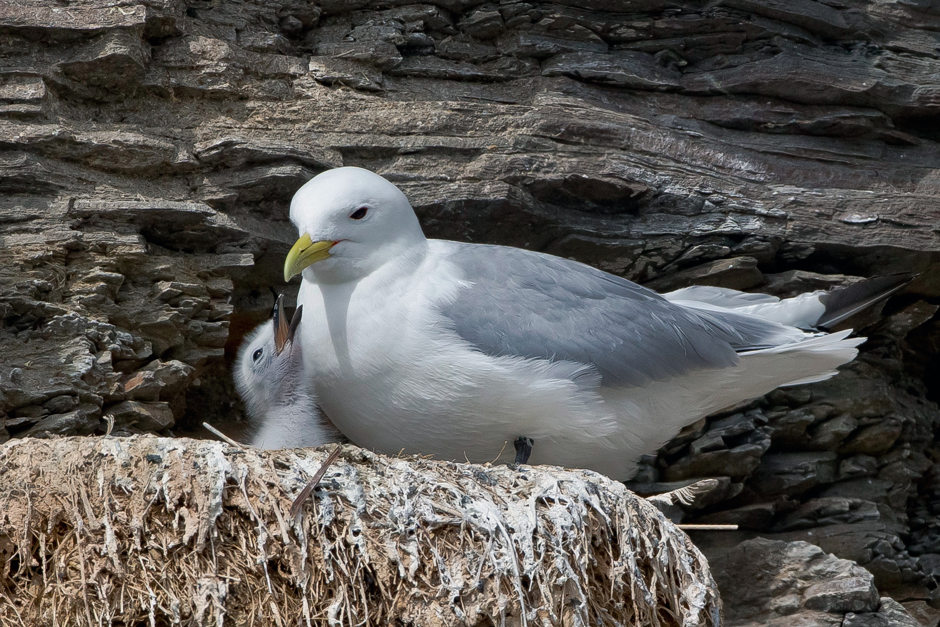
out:
<path id="1" fill-rule="evenodd" d="M 729 368 L 738 351 L 794 340 L 775 322 L 677 306 L 569 259 L 468 243 L 452 243 L 448 259 L 470 283 L 441 306 L 460 337 L 493 356 L 590 365 L 606 385 Z"/>

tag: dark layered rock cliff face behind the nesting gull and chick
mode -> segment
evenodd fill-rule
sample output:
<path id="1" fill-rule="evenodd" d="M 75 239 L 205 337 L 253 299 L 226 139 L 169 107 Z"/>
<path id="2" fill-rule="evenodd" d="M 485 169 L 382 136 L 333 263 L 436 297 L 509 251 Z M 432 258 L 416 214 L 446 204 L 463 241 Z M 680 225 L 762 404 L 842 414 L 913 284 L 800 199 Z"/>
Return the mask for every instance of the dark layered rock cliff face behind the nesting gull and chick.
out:
<path id="1" fill-rule="evenodd" d="M 931 0 L 0 0 L 0 441 L 231 429 L 234 350 L 296 292 L 290 196 L 361 165 L 431 237 L 660 290 L 920 273 L 851 321 L 845 372 L 690 427 L 634 487 L 720 478 L 686 522 L 929 608 L 938 129 Z"/>

